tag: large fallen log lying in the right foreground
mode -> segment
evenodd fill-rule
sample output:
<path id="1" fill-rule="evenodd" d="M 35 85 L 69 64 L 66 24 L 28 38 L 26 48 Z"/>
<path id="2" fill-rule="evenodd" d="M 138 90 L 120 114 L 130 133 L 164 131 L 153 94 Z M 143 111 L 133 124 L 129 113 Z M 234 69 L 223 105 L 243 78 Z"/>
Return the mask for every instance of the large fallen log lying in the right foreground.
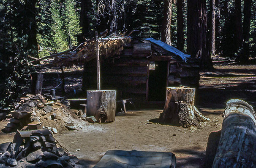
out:
<path id="1" fill-rule="evenodd" d="M 256 167 L 255 124 L 256 114 L 251 105 L 239 99 L 227 102 L 212 168 Z"/>

